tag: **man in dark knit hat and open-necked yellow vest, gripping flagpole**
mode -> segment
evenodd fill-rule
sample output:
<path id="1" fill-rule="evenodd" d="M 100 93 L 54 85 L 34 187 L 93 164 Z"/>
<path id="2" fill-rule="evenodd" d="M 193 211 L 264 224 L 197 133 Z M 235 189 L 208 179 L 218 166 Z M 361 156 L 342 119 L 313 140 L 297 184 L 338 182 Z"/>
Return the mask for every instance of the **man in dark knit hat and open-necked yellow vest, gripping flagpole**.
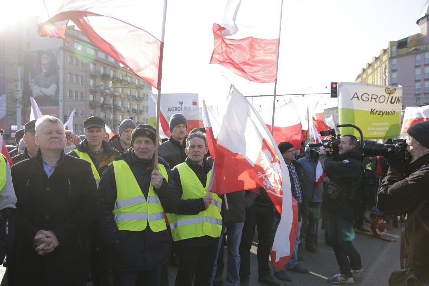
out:
<path id="1" fill-rule="evenodd" d="M 117 154 L 100 182 L 100 234 L 111 255 L 115 285 L 159 285 L 171 237 L 164 211 L 176 212 L 180 194 L 161 157 L 154 170 L 155 129 L 140 125 L 131 149 Z"/>

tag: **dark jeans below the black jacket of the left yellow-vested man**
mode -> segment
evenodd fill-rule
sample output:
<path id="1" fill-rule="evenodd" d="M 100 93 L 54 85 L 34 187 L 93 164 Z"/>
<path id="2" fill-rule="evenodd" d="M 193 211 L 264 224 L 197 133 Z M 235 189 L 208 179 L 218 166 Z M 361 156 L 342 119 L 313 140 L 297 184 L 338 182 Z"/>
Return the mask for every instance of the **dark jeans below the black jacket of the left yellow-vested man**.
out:
<path id="1" fill-rule="evenodd" d="M 161 281 L 161 266 L 148 271 L 115 271 L 114 286 L 158 286 Z"/>

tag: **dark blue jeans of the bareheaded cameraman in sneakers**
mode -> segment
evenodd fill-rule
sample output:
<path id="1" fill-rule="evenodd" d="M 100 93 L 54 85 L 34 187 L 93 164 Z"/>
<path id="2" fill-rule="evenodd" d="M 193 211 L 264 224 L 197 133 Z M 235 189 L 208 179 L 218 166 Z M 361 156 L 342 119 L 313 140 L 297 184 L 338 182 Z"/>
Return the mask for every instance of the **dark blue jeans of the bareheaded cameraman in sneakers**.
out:
<path id="1" fill-rule="evenodd" d="M 353 220 L 328 219 L 329 243 L 331 244 L 341 274 L 351 275 L 351 269 L 362 268 L 361 255 L 351 242 L 356 236 L 353 231 Z"/>

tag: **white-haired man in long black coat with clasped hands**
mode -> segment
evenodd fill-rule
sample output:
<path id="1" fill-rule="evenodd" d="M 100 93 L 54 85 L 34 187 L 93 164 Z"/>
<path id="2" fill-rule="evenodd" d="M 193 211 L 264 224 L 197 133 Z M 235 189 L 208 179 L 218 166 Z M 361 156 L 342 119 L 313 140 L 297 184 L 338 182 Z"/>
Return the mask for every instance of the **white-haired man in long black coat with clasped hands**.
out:
<path id="1" fill-rule="evenodd" d="M 90 163 L 64 154 L 62 122 L 36 121 L 37 156 L 12 166 L 17 285 L 85 285 L 89 227 L 98 211 Z M 25 274 L 23 274 L 25 273 Z"/>

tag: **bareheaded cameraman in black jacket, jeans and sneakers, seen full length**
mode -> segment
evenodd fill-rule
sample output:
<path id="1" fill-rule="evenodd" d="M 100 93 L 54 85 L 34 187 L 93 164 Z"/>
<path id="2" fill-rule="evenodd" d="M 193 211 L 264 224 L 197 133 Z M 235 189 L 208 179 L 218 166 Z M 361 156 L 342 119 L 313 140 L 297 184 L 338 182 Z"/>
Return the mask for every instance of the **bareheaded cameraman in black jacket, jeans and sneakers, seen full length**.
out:
<path id="1" fill-rule="evenodd" d="M 328 279 L 330 283 L 354 283 L 353 276 L 362 271 L 361 256 L 351 242 L 354 239 L 353 224 L 360 211 L 358 183 L 363 170 L 359 141 L 353 135 L 344 135 L 338 145 L 341 161 L 319 151 L 319 161 L 331 180 L 322 203 L 327 216 L 329 242 L 340 267 L 340 273 Z"/>

